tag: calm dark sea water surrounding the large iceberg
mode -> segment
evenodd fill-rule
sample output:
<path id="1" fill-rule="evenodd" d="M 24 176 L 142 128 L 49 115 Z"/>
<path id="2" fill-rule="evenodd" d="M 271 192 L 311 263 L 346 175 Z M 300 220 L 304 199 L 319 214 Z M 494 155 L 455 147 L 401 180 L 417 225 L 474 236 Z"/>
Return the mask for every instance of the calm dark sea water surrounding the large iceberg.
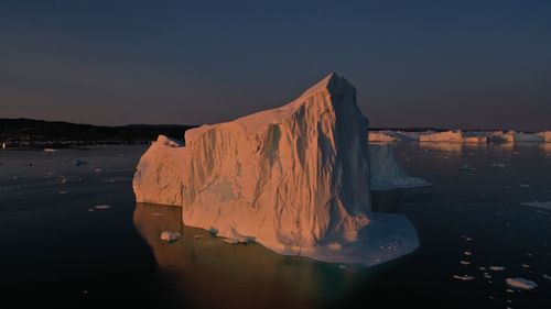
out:
<path id="1" fill-rule="evenodd" d="M 183 227 L 179 208 L 136 205 L 144 146 L 0 151 L 0 308 L 551 308 L 551 211 L 521 206 L 551 200 L 551 146 L 393 147 L 433 186 L 375 194 L 421 246 L 371 268 L 230 245 Z M 183 236 L 161 242 L 164 230 Z M 510 293 L 506 277 L 539 287 Z"/>

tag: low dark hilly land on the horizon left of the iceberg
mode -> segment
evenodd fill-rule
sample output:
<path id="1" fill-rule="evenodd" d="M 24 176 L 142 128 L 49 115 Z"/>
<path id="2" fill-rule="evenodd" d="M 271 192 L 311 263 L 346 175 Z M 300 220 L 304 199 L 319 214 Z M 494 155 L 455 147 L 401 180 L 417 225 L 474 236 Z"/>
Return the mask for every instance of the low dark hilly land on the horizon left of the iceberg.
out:
<path id="1" fill-rule="evenodd" d="M 129 124 L 106 126 L 44 121 L 34 119 L 0 118 L 0 146 L 71 147 L 95 144 L 144 144 L 163 134 L 183 140 L 184 132 L 196 125 Z"/>

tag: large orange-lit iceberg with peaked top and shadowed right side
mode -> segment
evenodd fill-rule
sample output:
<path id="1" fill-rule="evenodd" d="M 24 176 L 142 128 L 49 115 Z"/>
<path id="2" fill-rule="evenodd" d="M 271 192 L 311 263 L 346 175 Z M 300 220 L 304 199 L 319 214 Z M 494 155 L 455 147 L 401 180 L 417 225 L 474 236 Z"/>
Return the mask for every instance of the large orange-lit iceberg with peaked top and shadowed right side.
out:
<path id="1" fill-rule="evenodd" d="M 186 131 L 185 146 L 160 136 L 136 198 L 280 254 L 382 263 L 419 242 L 403 216 L 371 212 L 367 126 L 354 86 L 331 74 L 281 108 Z"/>

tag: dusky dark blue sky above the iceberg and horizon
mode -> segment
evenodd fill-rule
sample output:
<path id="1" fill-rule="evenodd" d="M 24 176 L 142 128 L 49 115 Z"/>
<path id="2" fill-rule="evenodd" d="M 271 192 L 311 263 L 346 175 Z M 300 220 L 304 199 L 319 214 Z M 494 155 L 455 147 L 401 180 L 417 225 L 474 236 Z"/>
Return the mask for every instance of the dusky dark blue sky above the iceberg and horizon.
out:
<path id="1" fill-rule="evenodd" d="M 372 125 L 551 129 L 551 1 L 0 2 L 0 118 L 212 123 L 329 71 Z"/>

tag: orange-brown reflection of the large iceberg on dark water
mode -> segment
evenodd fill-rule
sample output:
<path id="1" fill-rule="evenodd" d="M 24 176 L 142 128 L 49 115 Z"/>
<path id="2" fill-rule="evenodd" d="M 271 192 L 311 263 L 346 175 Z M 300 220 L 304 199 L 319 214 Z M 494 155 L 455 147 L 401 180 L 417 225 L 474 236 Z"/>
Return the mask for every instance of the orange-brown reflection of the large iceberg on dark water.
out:
<path id="1" fill-rule="evenodd" d="M 175 293 L 190 295 L 202 308 L 315 307 L 323 298 L 346 295 L 365 271 L 279 255 L 256 243 L 228 244 L 206 230 L 182 224 L 179 207 L 138 203 L 133 223 L 151 246 L 160 272 L 175 283 Z M 163 231 L 182 238 L 163 242 Z"/>

